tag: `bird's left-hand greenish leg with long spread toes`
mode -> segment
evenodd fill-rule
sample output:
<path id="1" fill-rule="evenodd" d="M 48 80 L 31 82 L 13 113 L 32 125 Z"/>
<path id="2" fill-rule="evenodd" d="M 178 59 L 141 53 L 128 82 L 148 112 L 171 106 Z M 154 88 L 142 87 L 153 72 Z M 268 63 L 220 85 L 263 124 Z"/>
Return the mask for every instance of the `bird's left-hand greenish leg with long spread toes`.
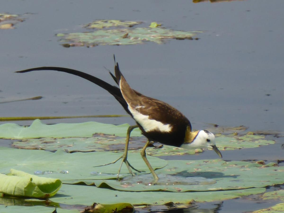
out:
<path id="1" fill-rule="evenodd" d="M 126 164 L 126 167 L 128 168 L 130 174 L 133 176 L 134 173 L 131 171 L 131 168 L 133 170 L 135 170 L 136 172 L 143 172 L 143 171 L 139 171 L 137 169 L 135 169 L 133 166 L 131 166 L 131 164 L 128 162 L 127 160 L 127 153 L 128 153 L 128 145 L 129 145 L 129 139 L 130 139 L 130 133 L 133 129 L 137 128 L 138 126 L 135 125 L 135 126 L 129 126 L 128 127 L 128 130 L 127 130 L 127 134 L 126 134 L 126 141 L 125 141 L 125 149 L 124 149 L 124 153 L 122 156 L 120 156 L 118 159 L 116 159 L 115 161 L 113 162 L 110 162 L 110 163 L 107 163 L 107 164 L 104 164 L 104 165 L 100 165 L 100 166 L 106 166 L 106 165 L 110 165 L 110 164 L 114 164 L 116 163 L 120 158 L 122 158 L 122 162 L 120 164 L 120 167 L 119 167 L 119 170 L 118 170 L 118 174 L 117 174 L 117 179 L 119 177 L 119 173 L 120 173 L 120 169 L 122 167 L 122 164 L 123 162 Z M 94 167 L 99 167 L 99 166 L 94 166 Z"/>

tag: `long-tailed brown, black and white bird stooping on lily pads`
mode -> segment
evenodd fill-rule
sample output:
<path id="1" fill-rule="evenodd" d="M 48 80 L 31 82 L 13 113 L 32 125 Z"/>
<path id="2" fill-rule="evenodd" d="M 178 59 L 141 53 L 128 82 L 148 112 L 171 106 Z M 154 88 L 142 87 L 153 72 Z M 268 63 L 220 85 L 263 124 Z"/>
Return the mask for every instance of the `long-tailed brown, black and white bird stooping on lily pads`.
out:
<path id="1" fill-rule="evenodd" d="M 108 91 L 112 96 L 114 96 L 114 98 L 120 103 L 120 105 L 122 105 L 124 110 L 135 120 L 136 125 L 129 126 L 127 130 L 123 155 L 113 162 L 100 165 L 106 166 L 109 164 L 114 164 L 118 160 L 122 159 L 117 178 L 119 178 L 123 163 L 126 164 L 126 167 L 128 168 L 131 175 L 135 175 L 132 172 L 131 168 L 137 172 L 141 172 L 135 169 L 127 160 L 130 133 L 135 128 L 139 128 L 142 135 L 147 138 L 147 142 L 145 143 L 140 153 L 142 159 L 153 175 L 153 185 L 157 183 L 159 178 L 146 156 L 146 148 L 151 141 L 160 142 L 164 145 L 181 147 L 184 149 L 211 148 L 222 158 L 222 154 L 215 144 L 215 136 L 213 133 L 207 130 L 192 131 L 190 121 L 178 109 L 174 108 L 168 103 L 142 95 L 141 93 L 132 89 L 122 75 L 118 62 L 116 62 L 115 60 L 115 56 L 114 74 L 112 74 L 110 70 L 108 71 L 110 76 L 115 81 L 116 86 L 111 85 L 90 74 L 64 67 L 36 67 L 17 71 L 17 73 L 39 70 L 66 72 L 97 84 L 98 86 Z"/>

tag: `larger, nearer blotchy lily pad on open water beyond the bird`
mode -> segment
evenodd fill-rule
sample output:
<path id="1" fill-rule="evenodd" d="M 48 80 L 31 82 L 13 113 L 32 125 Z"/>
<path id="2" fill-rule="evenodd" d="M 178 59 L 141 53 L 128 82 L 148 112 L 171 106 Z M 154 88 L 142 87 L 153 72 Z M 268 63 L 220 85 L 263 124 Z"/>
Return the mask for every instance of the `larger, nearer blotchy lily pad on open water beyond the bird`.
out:
<path id="1" fill-rule="evenodd" d="M 62 36 L 60 41 L 64 47 L 97 45 L 130 45 L 142 44 L 145 41 L 152 41 L 158 44 L 164 43 L 167 39 L 189 39 L 200 31 L 176 31 L 166 28 L 126 28 L 111 30 L 96 30 L 94 32 L 70 33 Z M 67 45 L 67 44 L 68 45 Z"/>

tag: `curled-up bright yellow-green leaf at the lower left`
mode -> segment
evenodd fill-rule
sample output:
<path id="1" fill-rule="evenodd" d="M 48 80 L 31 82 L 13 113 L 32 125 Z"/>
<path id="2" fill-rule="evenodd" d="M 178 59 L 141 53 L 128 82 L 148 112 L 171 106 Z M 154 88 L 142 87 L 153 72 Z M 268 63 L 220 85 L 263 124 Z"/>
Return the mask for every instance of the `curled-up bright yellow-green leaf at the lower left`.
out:
<path id="1" fill-rule="evenodd" d="M 11 174 L 0 174 L 0 192 L 6 195 L 49 198 L 62 185 L 59 179 L 38 177 L 14 169 L 11 169 Z"/>

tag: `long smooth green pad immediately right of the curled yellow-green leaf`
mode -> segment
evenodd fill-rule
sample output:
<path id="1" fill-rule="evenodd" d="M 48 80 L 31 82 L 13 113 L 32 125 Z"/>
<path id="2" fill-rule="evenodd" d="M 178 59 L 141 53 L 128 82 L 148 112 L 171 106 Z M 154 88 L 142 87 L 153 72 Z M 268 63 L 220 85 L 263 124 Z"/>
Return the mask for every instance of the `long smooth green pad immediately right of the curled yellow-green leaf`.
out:
<path id="1" fill-rule="evenodd" d="M 192 200 L 197 202 L 223 201 L 241 196 L 259 194 L 265 191 L 264 188 L 214 191 L 214 192 L 130 192 L 102 189 L 92 186 L 63 184 L 59 193 L 52 198 L 53 202 L 64 204 L 90 205 L 93 202 L 99 203 L 120 203 L 130 202 L 132 205 L 163 205 L 169 202 L 174 204 L 188 204 Z"/>

